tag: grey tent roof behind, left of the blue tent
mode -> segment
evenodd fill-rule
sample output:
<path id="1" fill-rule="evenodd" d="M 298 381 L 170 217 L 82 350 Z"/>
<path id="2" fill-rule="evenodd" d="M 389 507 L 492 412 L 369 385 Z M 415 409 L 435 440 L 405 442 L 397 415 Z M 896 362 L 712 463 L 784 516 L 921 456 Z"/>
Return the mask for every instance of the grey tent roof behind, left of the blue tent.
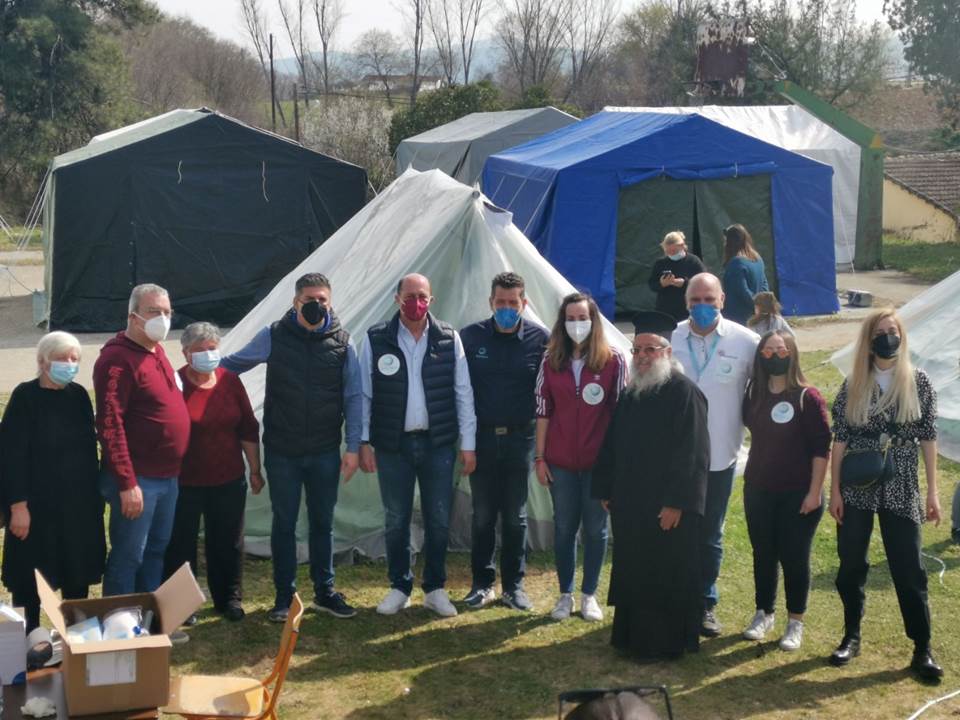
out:
<path id="1" fill-rule="evenodd" d="M 437 169 L 473 185 L 494 153 L 575 122 L 573 115 L 554 107 L 471 113 L 402 141 L 397 148 L 397 174 L 408 167 Z"/>

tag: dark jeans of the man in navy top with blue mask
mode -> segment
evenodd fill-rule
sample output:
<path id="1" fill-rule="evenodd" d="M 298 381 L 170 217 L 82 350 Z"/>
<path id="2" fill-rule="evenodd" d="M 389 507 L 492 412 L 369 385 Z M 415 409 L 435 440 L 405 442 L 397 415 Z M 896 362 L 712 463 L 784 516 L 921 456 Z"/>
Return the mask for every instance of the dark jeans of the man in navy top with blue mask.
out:
<path id="1" fill-rule="evenodd" d="M 530 430 L 533 427 L 531 425 Z M 474 588 L 492 587 L 497 578 L 497 518 L 501 521 L 500 582 L 504 592 L 523 585 L 527 554 L 527 493 L 533 435 L 497 435 L 477 430 L 477 469 L 470 476 L 473 499 L 470 564 Z"/>

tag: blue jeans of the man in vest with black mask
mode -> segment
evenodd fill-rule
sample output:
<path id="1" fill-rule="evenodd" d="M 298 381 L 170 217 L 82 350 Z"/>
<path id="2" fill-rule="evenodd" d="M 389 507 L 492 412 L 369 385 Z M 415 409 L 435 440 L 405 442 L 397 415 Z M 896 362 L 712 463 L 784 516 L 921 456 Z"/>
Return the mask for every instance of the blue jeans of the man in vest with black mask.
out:
<path id="1" fill-rule="evenodd" d="M 307 547 L 313 592 L 322 598 L 333 592 L 333 509 L 340 482 L 340 451 L 292 457 L 264 449 L 267 488 L 273 522 L 274 606 L 290 606 L 297 591 L 297 516 L 301 491 L 307 496 Z"/>

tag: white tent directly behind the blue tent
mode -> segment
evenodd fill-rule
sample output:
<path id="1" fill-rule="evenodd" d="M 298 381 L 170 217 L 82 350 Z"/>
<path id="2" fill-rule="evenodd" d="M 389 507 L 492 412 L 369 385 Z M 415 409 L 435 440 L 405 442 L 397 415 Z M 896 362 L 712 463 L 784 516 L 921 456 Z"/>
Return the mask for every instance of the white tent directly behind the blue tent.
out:
<path id="1" fill-rule="evenodd" d="M 853 263 L 857 238 L 860 147 L 797 105 L 607 107 L 623 112 L 698 114 L 757 140 L 833 168 L 833 234 L 837 265 Z"/>

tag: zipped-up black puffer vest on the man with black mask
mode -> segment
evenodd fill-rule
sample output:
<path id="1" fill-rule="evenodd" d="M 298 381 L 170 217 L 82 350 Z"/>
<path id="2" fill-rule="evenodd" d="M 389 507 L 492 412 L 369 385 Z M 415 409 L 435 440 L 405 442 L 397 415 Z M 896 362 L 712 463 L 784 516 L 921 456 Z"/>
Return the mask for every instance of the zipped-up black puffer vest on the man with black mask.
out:
<path id="1" fill-rule="evenodd" d="M 292 313 L 270 326 L 263 398 L 263 444 L 300 457 L 340 447 L 343 366 L 350 335 L 330 313 L 323 332 L 310 332 Z"/>

